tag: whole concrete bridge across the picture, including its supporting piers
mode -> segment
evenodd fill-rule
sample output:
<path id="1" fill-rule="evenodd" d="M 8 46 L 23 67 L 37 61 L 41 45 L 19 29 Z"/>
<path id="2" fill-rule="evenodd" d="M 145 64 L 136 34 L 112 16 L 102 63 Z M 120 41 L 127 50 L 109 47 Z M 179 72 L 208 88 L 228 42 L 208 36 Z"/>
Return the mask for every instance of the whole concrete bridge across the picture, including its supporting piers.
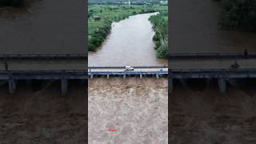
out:
<path id="1" fill-rule="evenodd" d="M 224 59 L 218 58 L 218 55 L 222 54 L 217 54 L 214 58 L 213 54 L 208 55 L 211 56 L 208 58 L 206 54 L 199 54 L 195 59 L 194 56 L 174 58 L 170 61 L 169 67 L 133 66 L 134 70 L 126 70 L 125 66 L 89 66 L 87 70 L 85 54 L 1 54 L 0 82 L 7 83 L 12 94 L 19 80 L 58 80 L 61 83 L 62 94 L 66 94 L 69 80 L 85 81 L 88 77 L 159 78 L 168 76 L 171 90 L 173 90 L 174 79 L 214 78 L 218 80 L 220 91 L 225 93 L 226 82 L 230 79 L 256 78 L 254 54 L 250 54 L 249 58 L 242 54 L 241 58 L 238 58 L 238 54 L 228 54 L 230 57 L 225 55 Z M 230 67 L 234 62 L 239 65 L 236 69 Z"/>

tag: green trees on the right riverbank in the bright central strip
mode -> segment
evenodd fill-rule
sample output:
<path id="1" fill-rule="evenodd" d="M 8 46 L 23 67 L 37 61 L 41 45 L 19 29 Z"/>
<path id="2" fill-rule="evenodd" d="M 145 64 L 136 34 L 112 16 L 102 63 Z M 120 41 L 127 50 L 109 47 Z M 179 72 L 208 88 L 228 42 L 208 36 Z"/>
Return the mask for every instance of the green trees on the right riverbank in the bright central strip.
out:
<path id="1" fill-rule="evenodd" d="M 157 50 L 158 58 L 168 57 L 168 12 L 160 11 L 159 14 L 149 18 L 153 24 L 155 31 L 153 40 L 155 42 L 154 49 Z"/>

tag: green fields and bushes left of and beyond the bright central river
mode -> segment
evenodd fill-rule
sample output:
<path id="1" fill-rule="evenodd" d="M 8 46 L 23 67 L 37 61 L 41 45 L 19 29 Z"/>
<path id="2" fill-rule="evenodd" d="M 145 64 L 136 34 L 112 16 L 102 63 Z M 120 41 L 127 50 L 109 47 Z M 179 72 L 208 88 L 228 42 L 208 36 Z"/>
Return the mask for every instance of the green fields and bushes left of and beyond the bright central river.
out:
<path id="1" fill-rule="evenodd" d="M 130 15 L 166 10 L 160 5 L 90 5 L 88 6 L 89 51 L 97 50 L 110 33 L 112 22 L 118 22 Z"/>

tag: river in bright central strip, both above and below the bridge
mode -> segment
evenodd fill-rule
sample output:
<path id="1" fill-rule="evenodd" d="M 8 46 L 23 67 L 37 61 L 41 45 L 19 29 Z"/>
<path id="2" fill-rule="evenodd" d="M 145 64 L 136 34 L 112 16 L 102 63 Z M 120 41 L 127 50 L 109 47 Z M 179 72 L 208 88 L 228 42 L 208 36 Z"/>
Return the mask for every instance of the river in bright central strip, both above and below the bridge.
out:
<path id="1" fill-rule="evenodd" d="M 138 14 L 114 22 L 102 47 L 89 53 L 89 66 L 167 65 L 167 61 L 156 58 L 154 31 L 148 21 L 151 15 Z M 89 143 L 166 144 L 167 81 L 167 78 L 89 80 Z"/>

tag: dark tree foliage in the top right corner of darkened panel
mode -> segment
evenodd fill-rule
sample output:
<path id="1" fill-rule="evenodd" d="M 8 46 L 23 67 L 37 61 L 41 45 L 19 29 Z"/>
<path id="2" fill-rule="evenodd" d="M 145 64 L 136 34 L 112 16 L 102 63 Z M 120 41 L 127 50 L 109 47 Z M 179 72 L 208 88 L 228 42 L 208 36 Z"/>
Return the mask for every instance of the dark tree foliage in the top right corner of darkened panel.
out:
<path id="1" fill-rule="evenodd" d="M 222 28 L 256 32 L 256 0 L 221 0 Z"/>

